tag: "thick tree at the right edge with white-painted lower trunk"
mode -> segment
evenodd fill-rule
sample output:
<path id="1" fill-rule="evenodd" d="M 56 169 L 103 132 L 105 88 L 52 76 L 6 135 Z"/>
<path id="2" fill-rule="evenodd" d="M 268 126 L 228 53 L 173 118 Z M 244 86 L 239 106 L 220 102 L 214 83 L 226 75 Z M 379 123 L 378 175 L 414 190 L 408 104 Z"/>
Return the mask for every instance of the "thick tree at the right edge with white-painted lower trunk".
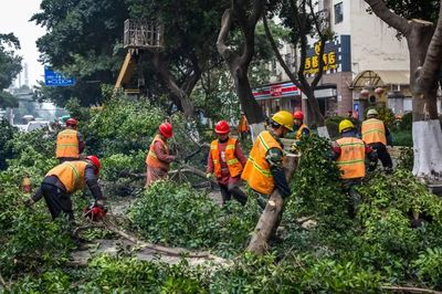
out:
<path id="1" fill-rule="evenodd" d="M 365 1 L 378 18 L 398 30 L 408 42 L 413 95 L 413 174 L 425 178 L 441 177 L 442 132 L 436 97 L 442 65 L 442 1 Z M 434 14 L 438 11 L 435 7 L 439 15 Z M 423 17 L 430 21 L 408 20 L 409 17 Z M 438 19 L 435 24 L 432 19 Z"/>

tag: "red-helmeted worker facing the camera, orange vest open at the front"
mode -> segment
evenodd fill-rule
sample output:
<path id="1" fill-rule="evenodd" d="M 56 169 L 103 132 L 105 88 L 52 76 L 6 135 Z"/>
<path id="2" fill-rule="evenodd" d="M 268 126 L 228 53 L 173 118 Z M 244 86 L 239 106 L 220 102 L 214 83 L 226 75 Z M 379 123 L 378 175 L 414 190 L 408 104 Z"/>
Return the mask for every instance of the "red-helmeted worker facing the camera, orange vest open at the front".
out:
<path id="1" fill-rule="evenodd" d="M 215 177 L 220 186 L 222 203 L 231 200 L 232 196 L 241 204 L 248 202 L 248 196 L 240 189 L 241 172 L 245 165 L 245 156 L 238 139 L 229 137 L 228 122 L 220 120 L 214 126 L 218 139 L 210 144 L 207 177 Z"/>

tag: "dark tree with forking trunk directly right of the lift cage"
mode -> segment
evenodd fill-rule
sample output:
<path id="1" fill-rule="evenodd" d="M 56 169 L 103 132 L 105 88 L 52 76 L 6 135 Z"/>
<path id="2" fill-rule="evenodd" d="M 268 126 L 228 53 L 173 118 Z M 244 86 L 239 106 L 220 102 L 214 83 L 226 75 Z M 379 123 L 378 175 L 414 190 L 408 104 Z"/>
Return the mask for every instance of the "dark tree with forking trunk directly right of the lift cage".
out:
<path id="1" fill-rule="evenodd" d="M 165 48 L 147 54 L 144 62 L 169 90 L 175 105 L 187 117 L 196 115 L 190 96 L 202 73 L 221 63 L 213 46 L 223 1 L 129 0 L 131 17 L 162 23 Z M 149 67 L 149 66 L 147 66 Z M 144 72 L 149 76 L 151 72 Z"/>

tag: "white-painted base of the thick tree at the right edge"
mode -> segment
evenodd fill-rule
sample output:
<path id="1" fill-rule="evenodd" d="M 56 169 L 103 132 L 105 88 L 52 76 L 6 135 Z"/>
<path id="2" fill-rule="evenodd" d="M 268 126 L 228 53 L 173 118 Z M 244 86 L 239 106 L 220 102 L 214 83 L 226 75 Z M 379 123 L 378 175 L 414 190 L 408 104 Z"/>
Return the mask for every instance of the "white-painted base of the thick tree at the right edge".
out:
<path id="1" fill-rule="evenodd" d="M 429 180 L 442 177 L 442 130 L 439 119 L 413 122 L 413 175 Z"/>

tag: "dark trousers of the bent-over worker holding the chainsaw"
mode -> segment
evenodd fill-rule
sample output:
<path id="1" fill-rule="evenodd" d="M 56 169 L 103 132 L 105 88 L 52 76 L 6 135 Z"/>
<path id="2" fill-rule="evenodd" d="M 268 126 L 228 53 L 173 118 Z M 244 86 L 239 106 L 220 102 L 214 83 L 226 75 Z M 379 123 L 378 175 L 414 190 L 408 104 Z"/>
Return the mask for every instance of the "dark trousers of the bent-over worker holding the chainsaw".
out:
<path id="1" fill-rule="evenodd" d="M 52 219 L 55 219 L 63 212 L 71 221 L 74 220 L 71 196 L 65 190 L 45 182 L 42 183 L 40 189 L 43 193 L 44 200 L 46 201 Z"/>

